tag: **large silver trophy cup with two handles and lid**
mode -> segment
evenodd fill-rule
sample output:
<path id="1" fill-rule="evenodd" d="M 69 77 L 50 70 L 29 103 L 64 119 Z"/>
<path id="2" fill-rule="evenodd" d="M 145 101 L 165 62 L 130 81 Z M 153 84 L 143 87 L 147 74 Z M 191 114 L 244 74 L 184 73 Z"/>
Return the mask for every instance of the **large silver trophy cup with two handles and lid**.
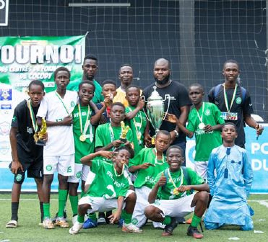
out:
<path id="1" fill-rule="evenodd" d="M 151 96 L 148 97 L 148 100 L 144 100 L 144 102 L 146 103 L 146 112 L 144 111 L 147 119 L 150 121 L 150 123 L 152 124 L 152 127 L 155 130 L 155 133 L 157 134 L 157 132 L 160 129 L 160 126 L 163 122 L 163 120 L 166 118 L 166 115 L 168 113 L 169 110 L 169 104 L 170 104 L 170 95 L 169 94 L 165 94 L 165 99 L 163 99 L 159 93 L 156 91 L 156 86 L 153 86 L 153 92 L 151 94 Z M 169 100 L 168 102 L 168 108 L 166 110 L 166 112 L 164 111 L 164 101 L 165 100 Z M 164 115 L 164 113 L 166 113 Z M 155 144 L 155 136 L 154 135 L 152 137 L 152 144 Z"/>

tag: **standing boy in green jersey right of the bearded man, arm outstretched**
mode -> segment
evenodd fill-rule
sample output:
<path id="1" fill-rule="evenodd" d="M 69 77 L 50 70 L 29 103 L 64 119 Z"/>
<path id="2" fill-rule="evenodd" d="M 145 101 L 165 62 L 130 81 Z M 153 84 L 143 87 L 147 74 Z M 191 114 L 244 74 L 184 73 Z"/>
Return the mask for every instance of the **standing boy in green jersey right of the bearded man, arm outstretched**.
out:
<path id="1" fill-rule="evenodd" d="M 166 120 L 176 123 L 189 138 L 195 135 L 194 170 L 206 180 L 211 150 L 222 144 L 220 130 L 224 120 L 221 117 L 221 111 L 215 104 L 202 101 L 205 92 L 200 84 L 191 84 L 188 91 L 194 107 L 189 113 L 187 127 L 185 128 L 173 114 L 168 114 Z"/>

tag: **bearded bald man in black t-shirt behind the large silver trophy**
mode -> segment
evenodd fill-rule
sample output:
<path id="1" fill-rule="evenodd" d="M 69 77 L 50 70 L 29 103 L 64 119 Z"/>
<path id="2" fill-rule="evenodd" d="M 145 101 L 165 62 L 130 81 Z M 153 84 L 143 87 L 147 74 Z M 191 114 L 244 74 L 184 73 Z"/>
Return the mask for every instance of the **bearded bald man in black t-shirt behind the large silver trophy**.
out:
<path id="1" fill-rule="evenodd" d="M 170 105 L 168 109 L 168 100 L 164 101 L 165 111 L 168 113 L 175 114 L 177 118 L 180 120 L 183 125 L 185 125 L 189 109 L 191 105 L 191 101 L 189 100 L 188 92 L 184 85 L 178 83 L 176 81 L 170 80 L 170 66 L 169 61 L 166 59 L 158 59 L 154 64 L 153 75 L 155 78 L 155 82 L 144 89 L 143 96 L 145 100 L 148 100 L 148 97 L 151 96 L 153 91 L 153 86 L 156 86 L 156 91 L 159 95 L 165 99 L 165 95 L 170 95 Z M 160 129 L 167 130 L 171 135 L 171 145 L 179 145 L 184 153 L 186 146 L 186 136 L 183 132 L 180 132 L 179 128 L 168 121 L 163 121 Z M 145 132 L 144 140 L 148 145 L 151 142 L 151 136 L 154 135 L 154 130 L 152 127 Z"/>

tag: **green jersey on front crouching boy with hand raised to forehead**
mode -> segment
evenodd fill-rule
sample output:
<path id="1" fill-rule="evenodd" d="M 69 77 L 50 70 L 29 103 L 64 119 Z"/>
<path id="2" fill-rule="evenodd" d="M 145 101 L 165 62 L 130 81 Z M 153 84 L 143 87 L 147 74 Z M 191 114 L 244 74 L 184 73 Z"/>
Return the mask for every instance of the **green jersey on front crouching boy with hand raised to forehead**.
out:
<path id="1" fill-rule="evenodd" d="M 92 160 L 91 171 L 96 174 L 86 195 L 105 199 L 125 197 L 130 186 L 127 175 L 118 175 L 112 164 L 99 157 Z"/>

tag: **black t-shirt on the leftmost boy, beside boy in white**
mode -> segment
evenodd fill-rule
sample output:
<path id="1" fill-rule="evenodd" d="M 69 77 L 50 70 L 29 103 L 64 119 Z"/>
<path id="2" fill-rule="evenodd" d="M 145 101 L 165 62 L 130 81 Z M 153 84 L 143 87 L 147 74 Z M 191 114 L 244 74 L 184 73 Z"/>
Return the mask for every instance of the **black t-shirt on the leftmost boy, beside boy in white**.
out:
<path id="1" fill-rule="evenodd" d="M 32 108 L 36 118 L 39 106 Z M 43 156 L 43 146 L 36 145 L 34 141 L 35 131 L 26 100 L 23 100 L 15 108 L 11 127 L 18 128 L 17 145 L 20 146 L 22 150 L 35 157 L 39 156 L 40 154 Z"/>

